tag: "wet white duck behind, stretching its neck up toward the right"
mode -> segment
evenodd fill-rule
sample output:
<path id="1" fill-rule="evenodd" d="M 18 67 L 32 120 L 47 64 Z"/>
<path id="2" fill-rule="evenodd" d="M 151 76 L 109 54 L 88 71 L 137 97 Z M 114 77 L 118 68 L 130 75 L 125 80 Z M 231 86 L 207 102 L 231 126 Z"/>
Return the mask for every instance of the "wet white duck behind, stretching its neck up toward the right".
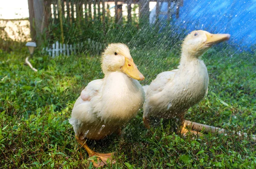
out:
<path id="1" fill-rule="evenodd" d="M 151 117 L 176 118 L 180 122 L 181 133 L 186 135 L 186 111 L 208 92 L 209 76 L 200 56 L 212 45 L 228 39 L 230 34 L 211 34 L 203 30 L 192 31 L 186 36 L 181 45 L 178 69 L 162 72 L 150 85 L 143 86 L 146 93 L 143 123 L 146 128 L 150 129 Z"/>

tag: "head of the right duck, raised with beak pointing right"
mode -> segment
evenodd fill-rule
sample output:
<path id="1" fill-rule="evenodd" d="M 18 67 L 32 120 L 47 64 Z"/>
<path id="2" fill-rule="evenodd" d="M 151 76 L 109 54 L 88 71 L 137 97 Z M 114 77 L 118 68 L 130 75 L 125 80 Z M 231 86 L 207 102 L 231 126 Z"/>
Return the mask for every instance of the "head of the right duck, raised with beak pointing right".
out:
<path id="1" fill-rule="evenodd" d="M 183 41 L 182 54 L 198 58 L 212 45 L 230 39 L 230 34 L 211 34 L 207 31 L 192 31 Z"/>

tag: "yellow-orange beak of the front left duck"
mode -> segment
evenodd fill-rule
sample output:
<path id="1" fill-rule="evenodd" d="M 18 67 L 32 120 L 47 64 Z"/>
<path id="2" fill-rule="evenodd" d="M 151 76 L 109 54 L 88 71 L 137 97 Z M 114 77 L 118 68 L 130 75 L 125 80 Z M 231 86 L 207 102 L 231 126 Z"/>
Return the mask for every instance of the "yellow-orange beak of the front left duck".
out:
<path id="1" fill-rule="evenodd" d="M 121 67 L 121 70 L 133 79 L 136 79 L 136 80 L 144 80 L 145 79 L 143 74 L 140 73 L 137 66 L 134 64 L 132 58 L 128 59 L 125 57 L 125 65 L 123 65 Z"/>

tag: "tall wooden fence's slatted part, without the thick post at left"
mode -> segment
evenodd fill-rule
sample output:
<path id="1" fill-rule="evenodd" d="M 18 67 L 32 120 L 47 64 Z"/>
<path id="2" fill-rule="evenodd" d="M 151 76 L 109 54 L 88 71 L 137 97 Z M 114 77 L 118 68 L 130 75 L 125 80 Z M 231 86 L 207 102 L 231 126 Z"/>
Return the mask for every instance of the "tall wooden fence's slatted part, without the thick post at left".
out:
<path id="1" fill-rule="evenodd" d="M 156 2 L 156 15 L 160 14 L 159 4 L 168 2 L 168 17 L 175 12 L 176 17 L 179 17 L 179 8 L 183 6 L 183 0 L 45 0 L 46 8 L 52 18 L 61 19 L 67 18 L 70 23 L 76 20 L 95 20 L 101 19 L 104 23 L 106 15 L 109 16 L 110 5 L 114 5 L 116 23 L 122 22 L 123 5 L 127 6 L 128 23 L 132 19 L 132 6 L 138 4 L 139 20 L 149 19 L 149 3 Z M 174 8 L 171 8 L 171 4 Z M 136 6 L 135 6 L 136 7 Z M 174 11 L 175 10 L 175 11 Z"/>

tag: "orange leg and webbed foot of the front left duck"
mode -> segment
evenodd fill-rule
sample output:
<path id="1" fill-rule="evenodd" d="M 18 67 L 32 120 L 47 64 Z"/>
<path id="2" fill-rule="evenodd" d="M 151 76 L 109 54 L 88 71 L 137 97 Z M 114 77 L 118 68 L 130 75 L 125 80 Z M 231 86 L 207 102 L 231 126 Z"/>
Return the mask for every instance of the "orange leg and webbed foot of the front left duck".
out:
<path id="1" fill-rule="evenodd" d="M 109 160 L 111 163 L 116 163 L 116 161 L 112 158 L 112 156 L 114 155 L 113 152 L 111 153 L 98 153 L 98 152 L 94 152 L 92 149 L 90 149 L 89 146 L 87 146 L 86 142 L 84 141 L 84 139 L 79 139 L 78 136 L 76 136 L 76 140 L 79 142 L 79 144 L 81 144 L 81 146 L 84 147 L 84 149 L 87 151 L 87 153 L 89 154 L 89 157 L 91 156 L 96 156 L 97 157 L 97 162 L 93 161 L 93 166 L 94 167 L 101 167 L 104 166 L 105 164 L 107 164 L 107 161 Z"/>

